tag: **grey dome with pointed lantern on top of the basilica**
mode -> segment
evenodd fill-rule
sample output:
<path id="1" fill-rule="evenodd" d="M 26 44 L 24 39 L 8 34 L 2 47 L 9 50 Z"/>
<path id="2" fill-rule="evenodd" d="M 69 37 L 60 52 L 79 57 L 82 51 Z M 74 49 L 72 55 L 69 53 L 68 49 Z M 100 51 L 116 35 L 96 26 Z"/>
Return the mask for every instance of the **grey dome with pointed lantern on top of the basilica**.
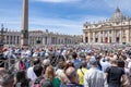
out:
<path id="1" fill-rule="evenodd" d="M 120 9 L 117 8 L 114 15 L 110 17 L 110 21 L 122 21 L 126 20 L 126 16 L 121 13 Z"/>

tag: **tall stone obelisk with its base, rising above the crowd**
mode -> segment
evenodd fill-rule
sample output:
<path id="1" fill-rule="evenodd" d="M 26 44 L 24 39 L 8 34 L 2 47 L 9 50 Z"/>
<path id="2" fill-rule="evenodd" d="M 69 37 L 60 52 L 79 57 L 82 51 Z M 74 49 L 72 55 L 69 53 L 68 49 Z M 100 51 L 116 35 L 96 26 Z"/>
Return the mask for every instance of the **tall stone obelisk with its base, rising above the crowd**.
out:
<path id="1" fill-rule="evenodd" d="M 28 0 L 23 0 L 22 9 L 21 46 L 28 46 Z"/>

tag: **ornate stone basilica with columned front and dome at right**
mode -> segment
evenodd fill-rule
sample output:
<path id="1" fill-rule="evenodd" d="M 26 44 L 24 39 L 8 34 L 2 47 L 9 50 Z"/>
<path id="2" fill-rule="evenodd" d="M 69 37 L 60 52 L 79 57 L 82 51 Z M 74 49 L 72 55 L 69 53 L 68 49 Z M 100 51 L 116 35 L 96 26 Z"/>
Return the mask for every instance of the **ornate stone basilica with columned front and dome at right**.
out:
<path id="1" fill-rule="evenodd" d="M 131 44 L 131 18 L 124 16 L 117 8 L 109 20 L 93 24 L 86 22 L 83 25 L 83 41 L 86 44 Z"/>

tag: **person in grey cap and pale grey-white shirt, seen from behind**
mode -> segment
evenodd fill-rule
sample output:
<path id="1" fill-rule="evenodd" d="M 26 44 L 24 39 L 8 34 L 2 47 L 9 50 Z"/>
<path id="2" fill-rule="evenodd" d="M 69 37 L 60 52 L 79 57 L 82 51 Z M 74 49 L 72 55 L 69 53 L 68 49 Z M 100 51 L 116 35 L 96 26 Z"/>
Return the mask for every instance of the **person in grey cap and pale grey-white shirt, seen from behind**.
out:
<path id="1" fill-rule="evenodd" d="M 97 69 L 96 59 L 90 59 L 91 69 L 84 75 L 84 87 L 104 87 L 104 73 Z"/>

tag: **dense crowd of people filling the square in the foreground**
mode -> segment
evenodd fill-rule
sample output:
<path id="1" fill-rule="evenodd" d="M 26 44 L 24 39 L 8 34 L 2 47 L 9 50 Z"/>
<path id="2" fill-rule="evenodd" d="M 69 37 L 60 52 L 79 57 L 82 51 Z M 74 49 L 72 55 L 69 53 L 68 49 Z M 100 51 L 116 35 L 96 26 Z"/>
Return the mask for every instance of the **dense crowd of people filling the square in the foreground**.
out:
<path id="1" fill-rule="evenodd" d="M 130 47 L 102 47 L 0 46 L 0 87 L 131 87 Z"/>

